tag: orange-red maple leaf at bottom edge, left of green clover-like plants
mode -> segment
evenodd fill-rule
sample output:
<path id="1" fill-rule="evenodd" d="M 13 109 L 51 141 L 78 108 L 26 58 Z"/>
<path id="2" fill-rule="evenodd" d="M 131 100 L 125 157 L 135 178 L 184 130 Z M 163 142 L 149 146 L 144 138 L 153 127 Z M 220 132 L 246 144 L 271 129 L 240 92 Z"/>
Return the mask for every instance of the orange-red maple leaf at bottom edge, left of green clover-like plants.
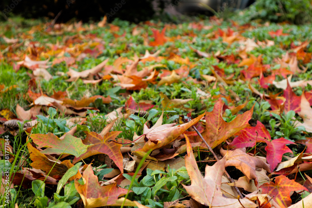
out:
<path id="1" fill-rule="evenodd" d="M 94 175 L 91 165 L 83 172 L 84 185 L 75 180 L 75 187 L 85 205 L 85 208 L 102 207 L 112 205 L 119 196 L 127 193 L 128 189 L 117 186 L 113 183 L 107 186 L 100 186 L 98 178 Z"/>

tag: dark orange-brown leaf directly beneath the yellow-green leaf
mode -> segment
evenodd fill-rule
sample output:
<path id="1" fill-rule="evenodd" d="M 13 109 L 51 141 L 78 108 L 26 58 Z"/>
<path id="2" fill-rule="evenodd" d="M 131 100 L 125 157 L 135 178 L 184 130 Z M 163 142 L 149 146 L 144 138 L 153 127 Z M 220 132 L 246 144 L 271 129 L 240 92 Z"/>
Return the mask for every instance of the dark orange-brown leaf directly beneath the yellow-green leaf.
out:
<path id="1" fill-rule="evenodd" d="M 27 147 L 30 153 L 30 159 L 33 161 L 30 166 L 36 169 L 43 170 L 44 172 L 46 172 L 46 174 L 49 173 L 49 176 L 65 174 L 69 168 L 74 166 L 73 164 L 71 164 L 70 160 L 60 162 L 53 157 L 49 159 L 44 154 L 39 152 L 39 150 L 34 148 L 31 143 L 28 143 Z"/>

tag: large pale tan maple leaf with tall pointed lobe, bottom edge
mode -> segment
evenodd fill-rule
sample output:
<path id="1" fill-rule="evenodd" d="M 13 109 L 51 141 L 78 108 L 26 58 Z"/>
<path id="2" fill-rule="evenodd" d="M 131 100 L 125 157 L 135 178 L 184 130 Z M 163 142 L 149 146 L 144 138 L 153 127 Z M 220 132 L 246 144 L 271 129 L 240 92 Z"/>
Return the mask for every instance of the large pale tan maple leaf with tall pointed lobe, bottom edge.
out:
<path id="1" fill-rule="evenodd" d="M 212 207 L 257 207 L 257 205 L 249 199 L 241 199 L 240 202 L 237 199 L 226 198 L 221 192 L 222 175 L 225 171 L 226 158 L 216 162 L 213 166 L 206 165 L 205 177 L 202 177 L 201 172 L 197 167 L 195 157 L 193 155 L 192 146 L 186 137 L 187 152 L 185 156 L 185 167 L 188 171 L 188 175 L 191 179 L 191 185 L 183 185 L 193 199 L 199 203 Z"/>

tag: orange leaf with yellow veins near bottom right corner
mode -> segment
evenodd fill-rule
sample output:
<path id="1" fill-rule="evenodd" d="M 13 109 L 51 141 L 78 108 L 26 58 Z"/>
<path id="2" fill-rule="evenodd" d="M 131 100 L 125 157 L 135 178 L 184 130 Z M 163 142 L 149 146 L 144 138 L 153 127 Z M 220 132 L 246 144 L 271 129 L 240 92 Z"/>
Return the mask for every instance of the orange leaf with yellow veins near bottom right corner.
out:
<path id="1" fill-rule="evenodd" d="M 291 205 L 291 191 L 308 191 L 307 188 L 301 186 L 299 183 L 295 182 L 295 180 L 289 180 L 283 175 L 276 177 L 275 183 L 271 181 L 270 184 L 262 184 L 260 188 L 262 188 L 262 194 L 270 195 L 281 207 L 289 207 Z"/>

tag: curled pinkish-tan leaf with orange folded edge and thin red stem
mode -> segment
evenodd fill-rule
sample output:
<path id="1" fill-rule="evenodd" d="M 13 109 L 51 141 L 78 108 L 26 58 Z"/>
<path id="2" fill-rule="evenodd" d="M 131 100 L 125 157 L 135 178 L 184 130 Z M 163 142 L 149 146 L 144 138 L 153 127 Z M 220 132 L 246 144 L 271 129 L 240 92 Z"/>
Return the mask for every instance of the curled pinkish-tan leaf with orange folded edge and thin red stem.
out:
<path id="1" fill-rule="evenodd" d="M 173 142 L 176 138 L 178 138 L 178 136 L 180 136 L 186 129 L 196 124 L 205 115 L 205 113 L 199 115 L 197 118 L 191 120 L 188 123 L 183 123 L 178 126 L 175 126 L 176 123 L 162 125 L 163 114 L 159 117 L 159 119 L 152 128 L 149 128 L 145 123 L 143 133 L 148 141 L 141 149 L 138 149 L 137 151 L 147 152 L 150 149 L 155 150 L 166 146 L 167 144 Z"/>

